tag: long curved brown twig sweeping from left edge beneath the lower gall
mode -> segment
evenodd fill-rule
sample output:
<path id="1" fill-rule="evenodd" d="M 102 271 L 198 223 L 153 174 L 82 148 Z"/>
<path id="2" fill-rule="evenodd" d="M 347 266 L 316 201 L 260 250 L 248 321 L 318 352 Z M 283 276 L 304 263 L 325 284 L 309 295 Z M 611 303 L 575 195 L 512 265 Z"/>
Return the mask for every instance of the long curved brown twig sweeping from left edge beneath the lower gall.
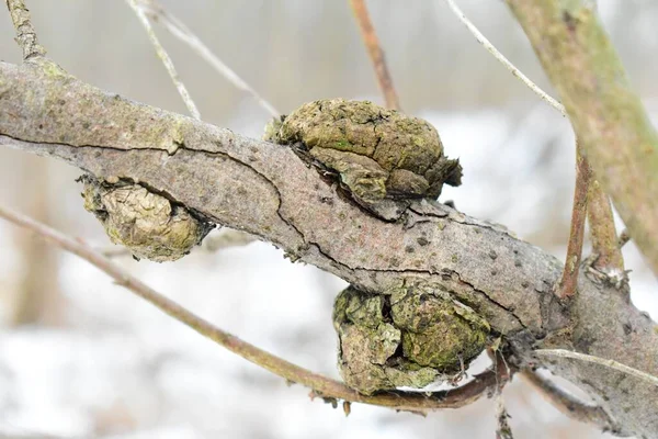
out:
<path id="1" fill-rule="evenodd" d="M 79 256 L 101 271 L 105 272 L 107 275 L 114 279 L 118 285 L 146 300 L 158 309 L 194 329 L 202 336 L 215 341 L 219 346 L 223 346 L 243 359 L 260 365 L 275 375 L 287 380 L 288 382 L 299 383 L 311 389 L 311 394 L 316 396 L 378 405 L 409 412 L 428 412 L 438 408 L 456 408 L 467 405 L 487 394 L 487 392 L 497 386 L 498 382 L 501 380 L 499 373 L 504 372 L 502 368 L 500 368 L 500 371 L 502 372 L 488 370 L 476 375 L 473 381 L 464 384 L 461 387 L 450 391 L 435 392 L 430 396 L 420 393 L 405 392 L 387 392 L 372 396 L 362 395 L 338 381 L 295 365 L 272 353 L 259 349 L 253 345 L 242 341 L 238 337 L 225 330 L 215 327 L 211 323 L 185 309 L 178 303 L 156 292 L 140 280 L 132 277 L 123 268 L 103 257 L 101 254 L 94 251 L 92 247 L 84 244 L 80 239 L 68 237 L 25 215 L 1 206 L 0 217 L 3 217 L 21 227 L 25 227 L 45 238 L 47 241 Z"/>

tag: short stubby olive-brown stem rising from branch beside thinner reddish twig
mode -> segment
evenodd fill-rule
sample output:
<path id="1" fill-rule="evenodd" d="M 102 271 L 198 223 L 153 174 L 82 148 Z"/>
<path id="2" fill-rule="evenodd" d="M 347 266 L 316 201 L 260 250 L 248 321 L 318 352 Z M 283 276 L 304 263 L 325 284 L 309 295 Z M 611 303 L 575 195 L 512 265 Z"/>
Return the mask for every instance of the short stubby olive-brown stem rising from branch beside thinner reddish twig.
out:
<path id="1" fill-rule="evenodd" d="M 610 198 L 595 179 L 590 180 L 587 216 L 592 237 L 592 251 L 597 255 L 594 268 L 603 272 L 624 271 L 624 257 L 617 241 Z"/>

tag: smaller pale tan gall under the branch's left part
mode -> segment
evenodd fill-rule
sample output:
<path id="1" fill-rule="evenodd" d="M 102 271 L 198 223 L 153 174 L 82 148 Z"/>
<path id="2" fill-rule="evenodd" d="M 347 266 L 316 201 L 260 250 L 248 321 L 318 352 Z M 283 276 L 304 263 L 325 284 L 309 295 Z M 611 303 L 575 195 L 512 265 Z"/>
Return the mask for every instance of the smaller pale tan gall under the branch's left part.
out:
<path id="1" fill-rule="evenodd" d="M 180 259 L 213 227 L 139 184 L 110 183 L 91 176 L 82 176 L 80 181 L 84 209 L 101 222 L 112 243 L 125 246 L 137 259 Z"/>

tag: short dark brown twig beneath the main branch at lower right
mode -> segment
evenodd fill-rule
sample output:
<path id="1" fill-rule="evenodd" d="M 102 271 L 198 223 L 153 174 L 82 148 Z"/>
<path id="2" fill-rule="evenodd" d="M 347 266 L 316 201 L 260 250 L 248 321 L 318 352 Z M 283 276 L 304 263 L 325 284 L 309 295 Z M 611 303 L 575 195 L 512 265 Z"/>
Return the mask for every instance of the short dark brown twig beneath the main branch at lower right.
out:
<path id="1" fill-rule="evenodd" d="M 588 404 L 546 380 L 537 372 L 525 369 L 521 376 L 553 406 L 571 419 L 593 424 L 602 430 L 614 430 L 610 416 L 598 405 Z"/>

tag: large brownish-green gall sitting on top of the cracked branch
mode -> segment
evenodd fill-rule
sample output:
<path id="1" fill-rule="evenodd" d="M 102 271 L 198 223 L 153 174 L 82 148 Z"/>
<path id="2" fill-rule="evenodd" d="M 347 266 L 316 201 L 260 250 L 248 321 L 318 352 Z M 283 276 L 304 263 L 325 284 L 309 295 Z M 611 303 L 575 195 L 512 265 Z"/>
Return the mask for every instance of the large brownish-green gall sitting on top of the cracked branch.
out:
<path id="1" fill-rule="evenodd" d="M 368 101 L 326 99 L 271 122 L 265 140 L 290 144 L 320 170 L 339 176 L 362 206 L 385 200 L 438 199 L 444 183 L 461 184 L 458 160 L 443 155 L 428 122 Z"/>

